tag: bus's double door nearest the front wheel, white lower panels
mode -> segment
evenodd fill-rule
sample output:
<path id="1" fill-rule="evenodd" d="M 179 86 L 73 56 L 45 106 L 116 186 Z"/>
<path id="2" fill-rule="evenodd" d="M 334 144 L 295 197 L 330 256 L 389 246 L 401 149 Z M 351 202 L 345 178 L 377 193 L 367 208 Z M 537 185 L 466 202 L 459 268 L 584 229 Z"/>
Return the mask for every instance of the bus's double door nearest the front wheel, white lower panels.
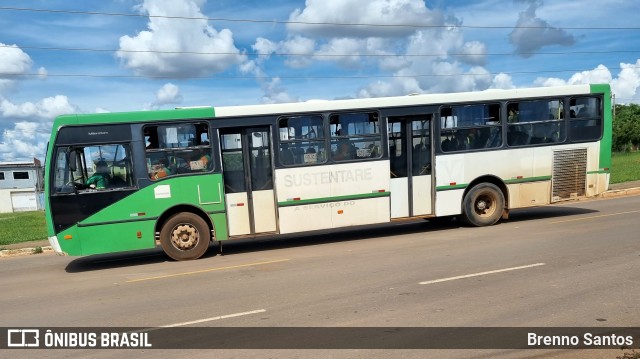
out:
<path id="1" fill-rule="evenodd" d="M 229 235 L 276 231 L 269 127 L 221 129 Z"/>

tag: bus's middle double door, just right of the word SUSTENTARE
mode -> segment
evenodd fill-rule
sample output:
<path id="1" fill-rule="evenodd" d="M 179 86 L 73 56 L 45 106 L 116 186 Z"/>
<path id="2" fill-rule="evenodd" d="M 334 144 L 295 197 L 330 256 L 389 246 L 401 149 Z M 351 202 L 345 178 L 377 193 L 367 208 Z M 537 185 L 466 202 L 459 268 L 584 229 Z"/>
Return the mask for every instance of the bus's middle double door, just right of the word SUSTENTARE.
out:
<path id="1" fill-rule="evenodd" d="M 391 218 L 433 213 L 433 115 L 389 117 Z"/>

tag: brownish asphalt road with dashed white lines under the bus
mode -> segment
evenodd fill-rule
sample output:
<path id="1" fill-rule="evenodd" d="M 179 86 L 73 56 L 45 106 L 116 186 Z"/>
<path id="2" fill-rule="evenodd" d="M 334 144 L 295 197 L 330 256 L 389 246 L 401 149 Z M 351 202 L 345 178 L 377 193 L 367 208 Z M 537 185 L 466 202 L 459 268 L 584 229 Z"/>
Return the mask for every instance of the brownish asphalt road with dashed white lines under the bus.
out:
<path id="1" fill-rule="evenodd" d="M 159 250 L 0 259 L 0 327 L 638 327 L 640 196 Z M 35 355 L 37 353 L 37 355 Z M 605 357 L 566 350 L 0 350 L 0 357 Z"/>

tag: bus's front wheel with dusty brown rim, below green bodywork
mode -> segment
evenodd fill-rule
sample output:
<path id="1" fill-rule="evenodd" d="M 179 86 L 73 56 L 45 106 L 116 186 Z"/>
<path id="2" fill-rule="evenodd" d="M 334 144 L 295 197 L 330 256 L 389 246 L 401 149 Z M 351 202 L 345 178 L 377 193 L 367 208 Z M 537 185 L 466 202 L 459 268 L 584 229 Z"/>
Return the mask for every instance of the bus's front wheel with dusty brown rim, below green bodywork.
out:
<path id="1" fill-rule="evenodd" d="M 174 214 L 162 226 L 160 244 L 164 252 L 174 260 L 198 259 L 209 248 L 209 226 L 193 213 Z"/>

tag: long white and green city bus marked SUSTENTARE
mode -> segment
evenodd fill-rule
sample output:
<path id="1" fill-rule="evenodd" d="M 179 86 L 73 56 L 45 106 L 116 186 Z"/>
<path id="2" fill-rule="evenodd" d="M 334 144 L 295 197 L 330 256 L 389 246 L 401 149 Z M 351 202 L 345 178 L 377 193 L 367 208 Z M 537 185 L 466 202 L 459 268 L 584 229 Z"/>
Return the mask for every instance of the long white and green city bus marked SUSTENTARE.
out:
<path id="1" fill-rule="evenodd" d="M 596 196 L 609 85 L 58 117 L 53 248 L 202 256 L 213 241 L 392 221 L 486 226 Z"/>

